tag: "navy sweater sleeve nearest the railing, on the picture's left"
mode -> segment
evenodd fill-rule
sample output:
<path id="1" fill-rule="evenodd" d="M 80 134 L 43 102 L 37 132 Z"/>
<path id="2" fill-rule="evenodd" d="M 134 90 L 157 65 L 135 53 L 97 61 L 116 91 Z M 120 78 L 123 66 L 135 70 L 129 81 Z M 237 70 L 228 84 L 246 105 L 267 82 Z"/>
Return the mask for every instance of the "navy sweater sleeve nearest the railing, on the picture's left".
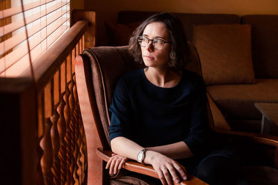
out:
<path id="1" fill-rule="evenodd" d="M 111 124 L 109 126 L 109 140 L 119 136 L 126 136 L 126 127 L 129 115 L 129 93 L 124 79 L 117 82 L 109 113 Z"/>

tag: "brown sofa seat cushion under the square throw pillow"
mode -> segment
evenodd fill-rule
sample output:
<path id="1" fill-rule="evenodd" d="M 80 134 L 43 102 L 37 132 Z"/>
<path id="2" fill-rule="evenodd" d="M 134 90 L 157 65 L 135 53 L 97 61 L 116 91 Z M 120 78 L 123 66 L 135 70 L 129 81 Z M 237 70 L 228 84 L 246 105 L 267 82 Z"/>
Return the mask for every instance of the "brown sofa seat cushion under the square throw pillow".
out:
<path id="1" fill-rule="evenodd" d="M 256 79 L 256 84 L 207 86 L 227 119 L 260 120 L 255 102 L 278 102 L 278 79 Z"/>

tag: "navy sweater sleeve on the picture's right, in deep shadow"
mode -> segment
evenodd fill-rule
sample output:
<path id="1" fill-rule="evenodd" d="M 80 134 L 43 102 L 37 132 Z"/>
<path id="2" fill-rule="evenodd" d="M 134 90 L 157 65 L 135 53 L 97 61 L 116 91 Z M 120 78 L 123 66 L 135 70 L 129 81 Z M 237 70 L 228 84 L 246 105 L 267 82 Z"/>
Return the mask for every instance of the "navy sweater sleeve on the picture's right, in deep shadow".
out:
<path id="1" fill-rule="evenodd" d="M 188 137 L 183 140 L 193 155 L 198 156 L 205 152 L 208 142 L 208 122 L 206 114 L 206 87 L 199 79 L 193 90 L 193 106 L 190 119 Z"/>

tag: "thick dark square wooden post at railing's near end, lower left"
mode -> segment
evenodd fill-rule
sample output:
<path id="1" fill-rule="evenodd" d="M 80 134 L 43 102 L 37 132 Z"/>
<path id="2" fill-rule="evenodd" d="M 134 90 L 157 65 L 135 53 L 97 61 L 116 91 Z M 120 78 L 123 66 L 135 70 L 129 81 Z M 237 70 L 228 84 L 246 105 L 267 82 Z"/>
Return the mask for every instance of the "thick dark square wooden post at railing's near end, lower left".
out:
<path id="1" fill-rule="evenodd" d="M 0 78 L 1 184 L 38 184 L 34 97 L 31 78 Z"/>

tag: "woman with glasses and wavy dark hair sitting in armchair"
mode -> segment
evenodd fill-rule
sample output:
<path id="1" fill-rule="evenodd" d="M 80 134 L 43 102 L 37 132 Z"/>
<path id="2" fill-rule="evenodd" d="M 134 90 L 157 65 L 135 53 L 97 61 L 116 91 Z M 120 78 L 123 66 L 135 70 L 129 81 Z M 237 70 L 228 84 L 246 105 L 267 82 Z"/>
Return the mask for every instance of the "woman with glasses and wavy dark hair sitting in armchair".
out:
<path id="1" fill-rule="evenodd" d="M 115 154 L 106 168 L 116 174 L 133 159 L 152 165 L 162 184 L 186 180 L 187 172 L 218 184 L 225 167 L 218 164 L 236 163 L 229 150 L 208 154 L 206 89 L 202 77 L 184 70 L 188 45 L 181 22 L 169 13 L 149 17 L 134 31 L 129 50 L 145 68 L 124 74 L 115 88 L 109 127 Z"/>

